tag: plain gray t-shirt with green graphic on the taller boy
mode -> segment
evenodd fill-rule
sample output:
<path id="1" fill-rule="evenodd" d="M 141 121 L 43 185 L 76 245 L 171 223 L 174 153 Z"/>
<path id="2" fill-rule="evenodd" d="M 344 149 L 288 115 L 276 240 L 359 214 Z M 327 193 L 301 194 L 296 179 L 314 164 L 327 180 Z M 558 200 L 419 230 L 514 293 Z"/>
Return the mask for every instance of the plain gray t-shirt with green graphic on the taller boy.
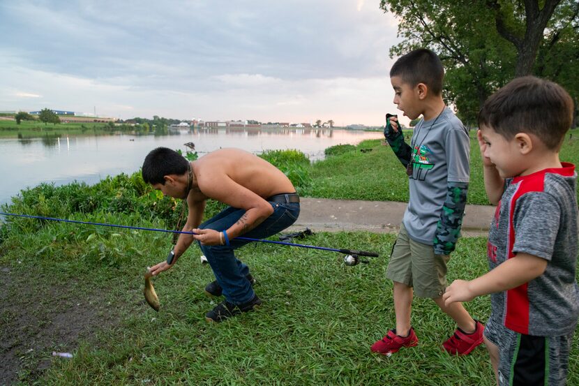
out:
<path id="1" fill-rule="evenodd" d="M 469 181 L 469 136 L 446 107 L 438 119 L 416 125 L 411 145 L 413 170 L 403 223 L 412 239 L 433 245 L 448 182 Z"/>

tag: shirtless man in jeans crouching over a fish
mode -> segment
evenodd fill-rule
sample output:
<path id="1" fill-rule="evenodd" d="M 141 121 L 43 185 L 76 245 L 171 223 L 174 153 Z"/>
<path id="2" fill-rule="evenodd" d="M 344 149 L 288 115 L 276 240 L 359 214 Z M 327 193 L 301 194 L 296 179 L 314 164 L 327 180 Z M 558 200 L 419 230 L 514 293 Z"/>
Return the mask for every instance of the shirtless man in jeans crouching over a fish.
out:
<path id="1" fill-rule="evenodd" d="M 145 158 L 143 179 L 164 195 L 187 199 L 188 216 L 167 261 L 151 267 L 158 275 L 170 269 L 197 240 L 216 281 L 205 292 L 225 296 L 206 320 L 221 322 L 251 311 L 262 301 L 253 292 L 249 268 L 234 255 L 246 240 L 263 239 L 292 225 L 299 216 L 299 196 L 292 182 L 271 163 L 240 149 L 220 149 L 188 162 L 172 149 L 158 147 Z M 208 198 L 229 207 L 201 223 Z"/>

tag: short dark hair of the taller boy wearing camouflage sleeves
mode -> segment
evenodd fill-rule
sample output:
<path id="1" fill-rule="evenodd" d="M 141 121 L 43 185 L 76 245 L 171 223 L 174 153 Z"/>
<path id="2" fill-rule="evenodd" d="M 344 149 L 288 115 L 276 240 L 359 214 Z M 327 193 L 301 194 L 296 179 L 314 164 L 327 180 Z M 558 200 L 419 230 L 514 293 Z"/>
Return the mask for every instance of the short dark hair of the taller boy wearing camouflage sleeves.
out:
<path id="1" fill-rule="evenodd" d="M 437 54 L 421 48 L 399 57 L 390 69 L 390 77 L 399 76 L 403 82 L 414 87 L 424 83 L 435 95 L 442 95 L 444 66 Z"/>

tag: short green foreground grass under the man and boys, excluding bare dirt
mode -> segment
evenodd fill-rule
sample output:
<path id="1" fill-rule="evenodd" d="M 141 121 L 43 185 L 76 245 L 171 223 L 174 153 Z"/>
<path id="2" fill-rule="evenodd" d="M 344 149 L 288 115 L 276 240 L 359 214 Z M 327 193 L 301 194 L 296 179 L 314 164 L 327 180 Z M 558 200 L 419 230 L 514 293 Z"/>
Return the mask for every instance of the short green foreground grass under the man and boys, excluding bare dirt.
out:
<path id="1" fill-rule="evenodd" d="M 143 267 L 162 260 L 167 237 L 108 232 L 103 237 L 112 237 L 130 257 L 109 267 L 87 255 L 87 232 L 47 224 L 0 260 L 13 267 L 13 275 L 27 272 L 31 283 L 42 277 L 55 283 L 74 279 L 80 298 L 100 293 L 109 304 L 105 311 L 121 315 L 119 325 L 97 329 L 96 341 L 81 342 L 74 359 L 53 358 L 38 385 L 494 385 L 483 348 L 468 357 L 440 350 L 454 326 L 428 299 L 414 301 L 418 347 L 391 358 L 370 354 L 370 345 L 395 321 L 391 282 L 384 279 L 393 235 L 320 233 L 304 241 L 381 254 L 356 267 L 343 265 L 335 253 L 266 244 L 242 248 L 239 258 L 252 267 L 264 305 L 216 325 L 203 318 L 213 304 L 202 288 L 213 277 L 200 264 L 197 247 L 155 279 L 161 302 L 155 313 L 135 301 L 142 296 Z M 78 234 L 76 241 L 61 238 L 71 233 Z M 45 244 L 51 253 L 37 254 Z M 449 280 L 486 272 L 485 246 L 484 238 L 461 239 Z M 488 297 L 466 306 L 476 318 L 488 318 Z M 573 344 L 569 385 L 579 382 L 577 338 Z M 26 376 L 21 381 L 29 383 Z"/>

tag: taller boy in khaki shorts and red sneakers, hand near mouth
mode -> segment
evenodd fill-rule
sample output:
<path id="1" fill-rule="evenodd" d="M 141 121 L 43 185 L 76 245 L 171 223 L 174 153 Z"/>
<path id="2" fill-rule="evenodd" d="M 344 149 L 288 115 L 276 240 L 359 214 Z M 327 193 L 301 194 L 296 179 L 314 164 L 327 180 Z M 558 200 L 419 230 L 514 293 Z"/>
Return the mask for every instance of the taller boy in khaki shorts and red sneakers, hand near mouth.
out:
<path id="1" fill-rule="evenodd" d="M 398 119 L 387 115 L 384 135 L 409 177 L 410 200 L 393 246 L 386 277 L 393 281 L 396 329 L 370 348 L 392 355 L 418 344 L 410 323 L 412 297 L 428 297 L 458 328 L 442 346 L 466 355 L 483 341 L 483 325 L 462 304 L 444 304 L 446 263 L 454 250 L 467 199 L 469 136 L 462 122 L 444 104 L 444 68 L 437 54 L 414 50 L 390 70 L 394 103 L 409 119 L 421 114 L 410 145 L 404 142 Z"/>

